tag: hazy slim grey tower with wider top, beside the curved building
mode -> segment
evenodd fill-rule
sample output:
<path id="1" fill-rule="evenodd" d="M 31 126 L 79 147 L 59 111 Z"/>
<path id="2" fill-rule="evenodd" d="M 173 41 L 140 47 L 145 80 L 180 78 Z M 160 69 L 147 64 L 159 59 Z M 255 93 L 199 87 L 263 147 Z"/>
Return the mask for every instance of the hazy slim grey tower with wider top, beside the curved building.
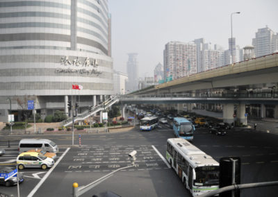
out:
<path id="1" fill-rule="evenodd" d="M 126 84 L 126 89 L 132 92 L 138 89 L 138 53 L 128 53 L 127 55 L 129 55 L 129 60 L 127 60 L 126 68 L 129 79 Z"/>

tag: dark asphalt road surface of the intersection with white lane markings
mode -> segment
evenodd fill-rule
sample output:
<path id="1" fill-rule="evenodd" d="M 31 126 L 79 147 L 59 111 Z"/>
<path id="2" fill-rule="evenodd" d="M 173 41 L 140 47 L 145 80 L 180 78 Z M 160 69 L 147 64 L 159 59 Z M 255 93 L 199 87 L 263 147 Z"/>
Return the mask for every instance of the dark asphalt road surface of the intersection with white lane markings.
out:
<path id="1" fill-rule="evenodd" d="M 28 135 L 28 137 L 31 137 Z M 38 137 L 35 136 L 35 137 Z M 21 196 L 72 196 L 72 184 L 79 186 L 131 164 L 128 153 L 138 151 L 136 166 L 118 171 L 82 196 L 113 191 L 120 196 L 190 196 L 178 176 L 169 169 L 156 150 L 165 157 L 166 140 L 174 137 L 166 126 L 151 132 L 135 128 L 129 132 L 82 135 L 82 146 L 71 147 L 71 135 L 40 136 L 60 146 L 56 166 L 47 171 L 24 169 L 25 182 Z M 24 136 L 1 137 L 0 146 L 7 146 L 1 165 L 13 163 L 17 144 Z M 226 136 L 215 136 L 205 128 L 195 132 L 193 144 L 215 160 L 220 157 L 241 158 L 241 183 L 278 180 L 278 135 L 253 130 L 230 130 Z M 75 136 L 74 144 L 78 143 Z M 67 148 L 69 147 L 69 148 Z M 59 161 L 60 160 L 60 161 Z M 5 165 L 6 165 L 5 164 Z M 41 185 L 40 185 L 41 183 Z M 40 185 L 40 187 L 38 187 Z M 0 191 L 17 196 L 17 187 L 0 186 Z M 278 187 L 245 189 L 241 196 L 277 196 Z M 30 195 L 31 196 L 31 195 Z"/>

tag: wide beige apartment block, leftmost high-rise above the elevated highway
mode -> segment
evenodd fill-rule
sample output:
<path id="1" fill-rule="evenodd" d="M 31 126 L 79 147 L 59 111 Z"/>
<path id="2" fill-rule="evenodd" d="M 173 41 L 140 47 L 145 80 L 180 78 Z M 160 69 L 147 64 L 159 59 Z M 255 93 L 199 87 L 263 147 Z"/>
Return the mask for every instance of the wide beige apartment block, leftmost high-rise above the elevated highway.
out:
<path id="1" fill-rule="evenodd" d="M 163 51 L 164 79 L 177 79 L 197 72 L 196 44 L 168 42 Z"/>

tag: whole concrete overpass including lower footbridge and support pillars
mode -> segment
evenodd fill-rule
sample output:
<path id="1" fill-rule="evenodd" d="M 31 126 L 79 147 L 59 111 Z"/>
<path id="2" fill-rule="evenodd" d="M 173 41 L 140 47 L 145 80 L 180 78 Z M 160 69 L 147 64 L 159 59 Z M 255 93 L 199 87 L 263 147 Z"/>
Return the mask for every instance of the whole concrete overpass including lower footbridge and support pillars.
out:
<path id="1" fill-rule="evenodd" d="M 261 117 L 272 113 L 272 117 L 278 118 L 277 87 L 278 53 L 272 53 L 140 89 L 127 95 L 133 98 L 126 97 L 120 101 L 178 103 L 178 110 L 183 109 L 184 103 L 222 103 L 224 121 L 234 122 L 236 110 L 238 121 L 246 123 L 247 104 L 259 105 L 259 110 L 256 110 Z M 188 96 L 175 96 L 177 94 Z M 161 95 L 168 96 L 163 98 Z"/>

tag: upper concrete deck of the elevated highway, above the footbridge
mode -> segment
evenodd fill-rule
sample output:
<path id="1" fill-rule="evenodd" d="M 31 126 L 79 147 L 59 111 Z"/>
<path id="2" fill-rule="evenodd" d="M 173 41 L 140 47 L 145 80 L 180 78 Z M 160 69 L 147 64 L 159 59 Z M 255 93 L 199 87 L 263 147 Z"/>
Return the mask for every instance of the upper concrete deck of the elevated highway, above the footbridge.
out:
<path id="1" fill-rule="evenodd" d="M 218 67 L 198 74 L 178 78 L 167 83 L 132 92 L 138 94 L 166 94 L 201 92 L 213 89 L 258 89 L 277 87 L 278 53 L 253 58 L 232 65 Z"/>

